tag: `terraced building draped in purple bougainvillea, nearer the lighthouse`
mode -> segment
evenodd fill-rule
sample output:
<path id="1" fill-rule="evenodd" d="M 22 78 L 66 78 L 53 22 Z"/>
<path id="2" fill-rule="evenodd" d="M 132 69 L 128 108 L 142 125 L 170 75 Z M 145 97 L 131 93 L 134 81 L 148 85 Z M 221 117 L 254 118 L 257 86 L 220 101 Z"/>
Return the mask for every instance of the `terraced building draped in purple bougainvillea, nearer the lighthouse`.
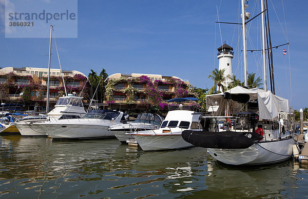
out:
<path id="1" fill-rule="evenodd" d="M 175 97 L 194 97 L 188 80 L 158 74 L 112 74 L 108 78 L 104 103 L 112 110 L 134 113 L 165 110 Z"/>

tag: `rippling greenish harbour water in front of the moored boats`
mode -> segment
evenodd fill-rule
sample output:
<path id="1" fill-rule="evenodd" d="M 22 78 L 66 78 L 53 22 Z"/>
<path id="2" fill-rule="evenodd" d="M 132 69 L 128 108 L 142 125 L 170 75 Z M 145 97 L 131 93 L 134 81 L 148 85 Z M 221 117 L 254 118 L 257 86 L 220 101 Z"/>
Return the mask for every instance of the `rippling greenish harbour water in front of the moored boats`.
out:
<path id="1" fill-rule="evenodd" d="M 303 198 L 307 168 L 218 164 L 204 148 L 143 152 L 118 140 L 0 137 L 3 198 Z"/>

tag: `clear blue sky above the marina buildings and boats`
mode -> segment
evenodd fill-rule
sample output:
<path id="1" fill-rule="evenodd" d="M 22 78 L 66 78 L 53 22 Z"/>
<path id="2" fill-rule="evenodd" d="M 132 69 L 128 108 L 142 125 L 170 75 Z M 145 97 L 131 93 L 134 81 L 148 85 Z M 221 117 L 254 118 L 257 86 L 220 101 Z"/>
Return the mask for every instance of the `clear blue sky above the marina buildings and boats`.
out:
<path id="1" fill-rule="evenodd" d="M 14 3 L 13 0 L 11 2 Z M 0 3 L 3 12 L 4 0 Z M 239 3 L 199 0 L 78 1 L 78 38 L 57 39 L 61 65 L 64 70 L 78 70 L 86 75 L 90 69 L 99 73 L 102 68 L 109 75 L 174 75 L 188 79 L 195 87 L 211 88 L 213 81 L 207 76 L 218 68 L 217 48 L 222 45 L 221 41 L 226 41 L 235 50 L 233 72 L 243 79 L 242 40 L 239 37 L 241 26 L 220 25 L 219 28 L 215 23 L 218 21 L 217 9 L 221 22 L 239 22 Z M 247 11 L 255 16 L 258 13 L 254 8 L 255 1 L 249 1 L 248 5 Z M 304 84 L 308 61 L 305 50 L 308 43 L 308 22 L 305 20 L 308 1 L 283 1 L 285 15 L 282 1 L 268 1 L 268 7 L 273 46 L 290 43 L 290 46 L 273 50 L 276 94 L 291 98 L 290 55 L 293 107 L 308 107 L 308 89 Z M 247 49 L 253 49 L 250 41 L 253 41 L 254 49 L 260 49 L 259 23 L 255 19 L 248 24 L 250 38 Z M 58 30 L 57 26 L 54 30 L 56 34 L 63 31 Z M 47 68 L 48 34 L 49 29 L 46 29 L 45 38 L 5 38 L 2 21 L 0 67 Z M 282 49 L 286 49 L 288 54 L 283 55 Z M 51 66 L 59 68 L 54 43 L 52 53 Z M 247 54 L 248 72 L 262 77 L 261 54 Z"/>

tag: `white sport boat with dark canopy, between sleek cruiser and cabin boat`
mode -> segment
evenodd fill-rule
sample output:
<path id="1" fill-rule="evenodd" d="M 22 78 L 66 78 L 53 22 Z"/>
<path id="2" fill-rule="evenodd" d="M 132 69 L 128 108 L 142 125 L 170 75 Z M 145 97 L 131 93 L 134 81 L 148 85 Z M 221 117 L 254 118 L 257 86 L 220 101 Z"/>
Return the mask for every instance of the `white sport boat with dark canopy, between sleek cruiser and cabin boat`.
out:
<path id="1" fill-rule="evenodd" d="M 163 118 L 158 114 L 139 113 L 137 119 L 128 124 L 113 125 L 109 130 L 118 138 L 121 143 L 125 143 L 132 136 L 128 133 L 158 129 L 163 122 Z"/>

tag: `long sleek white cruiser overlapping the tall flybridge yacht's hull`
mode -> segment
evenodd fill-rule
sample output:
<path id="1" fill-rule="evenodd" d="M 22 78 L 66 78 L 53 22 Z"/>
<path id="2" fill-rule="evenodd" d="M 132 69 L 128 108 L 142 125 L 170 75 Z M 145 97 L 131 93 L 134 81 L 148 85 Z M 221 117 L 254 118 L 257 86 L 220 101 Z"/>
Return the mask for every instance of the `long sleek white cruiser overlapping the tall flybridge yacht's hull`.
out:
<path id="1" fill-rule="evenodd" d="M 125 122 L 123 112 L 91 110 L 79 119 L 37 123 L 37 127 L 53 139 L 89 139 L 114 137 L 107 128 Z"/>

